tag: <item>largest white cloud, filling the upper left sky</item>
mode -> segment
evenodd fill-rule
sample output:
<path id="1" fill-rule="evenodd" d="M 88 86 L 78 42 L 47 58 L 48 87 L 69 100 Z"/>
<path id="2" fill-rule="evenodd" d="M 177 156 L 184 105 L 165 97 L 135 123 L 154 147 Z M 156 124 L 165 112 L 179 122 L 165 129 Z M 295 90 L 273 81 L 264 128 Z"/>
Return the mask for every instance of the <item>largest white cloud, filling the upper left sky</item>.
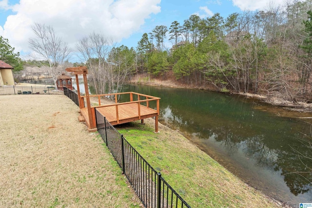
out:
<path id="1" fill-rule="evenodd" d="M 96 32 L 120 41 L 136 32 L 151 14 L 160 12 L 160 0 L 20 0 L 13 6 L 0 35 L 17 51 L 28 51 L 31 26 L 52 26 L 71 46 Z M 0 1 L 0 7 L 7 0 Z"/>

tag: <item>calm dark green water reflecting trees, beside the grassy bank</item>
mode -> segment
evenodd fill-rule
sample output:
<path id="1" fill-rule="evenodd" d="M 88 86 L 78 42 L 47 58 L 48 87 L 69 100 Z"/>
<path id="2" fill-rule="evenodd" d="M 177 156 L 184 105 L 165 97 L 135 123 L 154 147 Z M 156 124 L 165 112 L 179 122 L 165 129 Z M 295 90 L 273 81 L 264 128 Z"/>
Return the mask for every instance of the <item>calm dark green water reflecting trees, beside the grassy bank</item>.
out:
<path id="1" fill-rule="evenodd" d="M 311 140 L 311 113 L 294 113 L 239 95 L 130 85 L 124 92 L 160 97 L 159 121 L 274 199 L 292 207 L 312 202 L 312 160 L 300 138 Z M 297 172 L 297 173 L 294 173 Z M 303 176 L 302 176 L 303 175 Z"/>

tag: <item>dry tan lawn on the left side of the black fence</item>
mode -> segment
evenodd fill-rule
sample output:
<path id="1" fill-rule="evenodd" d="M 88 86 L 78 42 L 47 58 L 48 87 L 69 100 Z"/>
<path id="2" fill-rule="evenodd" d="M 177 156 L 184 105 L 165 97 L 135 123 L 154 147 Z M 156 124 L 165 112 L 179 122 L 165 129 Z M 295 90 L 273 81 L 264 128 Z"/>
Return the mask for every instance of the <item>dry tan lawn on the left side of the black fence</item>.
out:
<path id="1" fill-rule="evenodd" d="M 139 207 L 65 95 L 0 96 L 0 207 Z"/>

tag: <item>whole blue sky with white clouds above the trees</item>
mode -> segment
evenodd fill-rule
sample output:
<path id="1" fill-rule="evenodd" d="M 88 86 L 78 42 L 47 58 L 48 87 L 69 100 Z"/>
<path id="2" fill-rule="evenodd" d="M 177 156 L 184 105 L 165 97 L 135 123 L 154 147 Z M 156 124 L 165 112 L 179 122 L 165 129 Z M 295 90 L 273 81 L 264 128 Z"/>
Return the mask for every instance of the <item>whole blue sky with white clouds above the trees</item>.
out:
<path id="1" fill-rule="evenodd" d="M 52 26 L 75 52 L 76 43 L 91 33 L 113 39 L 117 46 L 137 47 L 144 33 L 157 25 L 170 27 L 196 14 L 223 18 L 244 11 L 266 10 L 272 0 L 0 0 L 0 36 L 27 59 L 31 26 Z M 274 0 L 283 5 L 284 0 Z M 168 35 L 167 35 L 168 37 Z M 169 43 L 168 43 L 169 44 Z M 168 46 L 170 47 L 170 46 Z M 78 61 L 72 56 L 73 62 Z M 79 61 L 78 61 L 79 62 Z"/>

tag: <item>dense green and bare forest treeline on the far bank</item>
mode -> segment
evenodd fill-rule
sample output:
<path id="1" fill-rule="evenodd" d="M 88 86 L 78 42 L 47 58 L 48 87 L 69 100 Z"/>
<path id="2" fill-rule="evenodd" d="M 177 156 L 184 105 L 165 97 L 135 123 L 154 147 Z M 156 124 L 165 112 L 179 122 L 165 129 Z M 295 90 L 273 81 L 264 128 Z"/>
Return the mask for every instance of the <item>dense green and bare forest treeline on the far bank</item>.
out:
<path id="1" fill-rule="evenodd" d="M 222 92 L 274 95 L 311 101 L 312 1 L 267 11 L 191 15 L 169 29 L 156 26 L 137 46 L 139 72 L 159 76 L 172 70 L 187 84 Z M 166 34 L 173 42 L 164 48 Z"/>

